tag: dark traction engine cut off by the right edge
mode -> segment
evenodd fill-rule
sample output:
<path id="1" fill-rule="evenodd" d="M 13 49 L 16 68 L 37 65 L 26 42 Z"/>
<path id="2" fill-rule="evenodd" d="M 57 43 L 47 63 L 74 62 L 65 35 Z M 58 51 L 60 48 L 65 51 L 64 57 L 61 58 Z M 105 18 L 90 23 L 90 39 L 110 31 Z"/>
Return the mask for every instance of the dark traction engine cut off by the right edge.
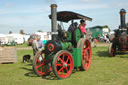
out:
<path id="1" fill-rule="evenodd" d="M 115 31 L 115 37 L 109 46 L 110 56 L 115 56 L 116 51 L 128 51 L 128 26 L 125 23 L 125 9 L 120 10 L 120 22 L 119 29 Z"/>

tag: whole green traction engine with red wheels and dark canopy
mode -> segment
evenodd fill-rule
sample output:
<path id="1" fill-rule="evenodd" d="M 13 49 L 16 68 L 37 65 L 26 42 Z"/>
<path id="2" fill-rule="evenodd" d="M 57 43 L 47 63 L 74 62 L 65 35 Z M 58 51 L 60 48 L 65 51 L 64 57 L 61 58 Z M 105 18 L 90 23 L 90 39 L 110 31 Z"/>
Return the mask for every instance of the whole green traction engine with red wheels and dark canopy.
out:
<path id="1" fill-rule="evenodd" d="M 57 78 L 67 78 L 74 68 L 88 70 L 91 63 L 91 45 L 88 39 L 82 38 L 79 28 L 74 32 L 64 31 L 58 26 L 57 20 L 68 22 L 74 19 L 92 19 L 74 12 L 56 12 L 56 4 L 51 5 L 52 40 L 49 40 L 44 50 L 38 52 L 33 60 L 37 75 L 48 75 L 51 71 Z"/>

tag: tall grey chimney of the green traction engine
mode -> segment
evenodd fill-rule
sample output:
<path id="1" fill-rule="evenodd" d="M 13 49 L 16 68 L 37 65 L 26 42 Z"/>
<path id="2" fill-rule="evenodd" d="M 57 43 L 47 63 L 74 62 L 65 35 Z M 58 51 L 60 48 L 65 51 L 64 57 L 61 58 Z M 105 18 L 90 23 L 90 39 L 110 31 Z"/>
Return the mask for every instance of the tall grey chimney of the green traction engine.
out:
<path id="1" fill-rule="evenodd" d="M 56 4 L 51 4 L 51 28 L 52 28 L 52 40 L 56 39 L 57 35 L 57 13 L 56 13 Z"/>

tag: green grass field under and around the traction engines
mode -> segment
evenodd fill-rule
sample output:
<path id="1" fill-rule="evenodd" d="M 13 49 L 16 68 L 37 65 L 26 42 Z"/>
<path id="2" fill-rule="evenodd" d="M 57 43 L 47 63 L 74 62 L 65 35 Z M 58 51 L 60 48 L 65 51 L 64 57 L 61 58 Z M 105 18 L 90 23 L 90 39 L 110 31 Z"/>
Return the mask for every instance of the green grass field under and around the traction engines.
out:
<path id="1" fill-rule="evenodd" d="M 18 50 L 16 64 L 0 64 L 0 85 L 128 85 L 128 54 L 108 57 L 107 47 L 92 48 L 89 70 L 76 71 L 64 80 L 53 73 L 36 76 L 31 63 L 22 63 L 25 54 L 32 55 L 32 50 Z"/>

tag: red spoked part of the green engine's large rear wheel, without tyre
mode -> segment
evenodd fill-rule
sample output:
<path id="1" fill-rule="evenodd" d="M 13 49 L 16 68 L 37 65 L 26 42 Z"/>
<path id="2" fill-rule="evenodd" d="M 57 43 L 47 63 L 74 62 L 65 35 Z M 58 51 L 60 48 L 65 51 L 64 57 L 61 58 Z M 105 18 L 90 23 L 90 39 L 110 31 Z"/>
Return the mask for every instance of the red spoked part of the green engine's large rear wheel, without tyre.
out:
<path id="1" fill-rule="evenodd" d="M 82 47 L 82 64 L 85 70 L 87 70 L 91 63 L 91 45 L 88 40 L 86 40 Z"/>

